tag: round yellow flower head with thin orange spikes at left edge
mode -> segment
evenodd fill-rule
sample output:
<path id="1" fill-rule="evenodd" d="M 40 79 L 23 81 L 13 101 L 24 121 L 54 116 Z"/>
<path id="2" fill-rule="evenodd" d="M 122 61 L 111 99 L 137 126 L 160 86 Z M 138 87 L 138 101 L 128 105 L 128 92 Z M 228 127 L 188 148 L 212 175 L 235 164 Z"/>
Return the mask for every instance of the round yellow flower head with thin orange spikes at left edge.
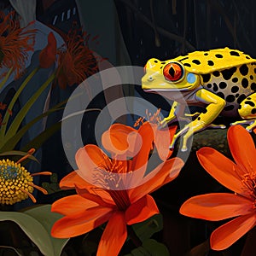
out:
<path id="1" fill-rule="evenodd" d="M 13 160 L 0 160 L 0 203 L 6 205 L 13 205 L 16 202 L 26 200 L 28 197 L 36 202 L 32 195 L 34 188 L 39 189 L 47 194 L 47 191 L 38 187 L 33 183 L 33 176 L 35 175 L 51 175 L 51 172 L 27 172 L 24 166 L 20 165 L 22 160 L 25 160 L 35 152 L 32 148 L 28 153 L 17 162 Z"/>

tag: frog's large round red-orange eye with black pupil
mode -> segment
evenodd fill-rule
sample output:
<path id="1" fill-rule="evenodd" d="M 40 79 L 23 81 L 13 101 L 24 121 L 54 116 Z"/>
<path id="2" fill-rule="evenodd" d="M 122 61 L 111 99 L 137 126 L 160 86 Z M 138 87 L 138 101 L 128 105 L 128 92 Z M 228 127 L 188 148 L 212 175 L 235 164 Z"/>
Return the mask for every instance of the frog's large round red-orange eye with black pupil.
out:
<path id="1" fill-rule="evenodd" d="M 184 69 L 181 64 L 177 62 L 170 62 L 164 67 L 163 73 L 166 80 L 177 82 L 183 78 Z"/>

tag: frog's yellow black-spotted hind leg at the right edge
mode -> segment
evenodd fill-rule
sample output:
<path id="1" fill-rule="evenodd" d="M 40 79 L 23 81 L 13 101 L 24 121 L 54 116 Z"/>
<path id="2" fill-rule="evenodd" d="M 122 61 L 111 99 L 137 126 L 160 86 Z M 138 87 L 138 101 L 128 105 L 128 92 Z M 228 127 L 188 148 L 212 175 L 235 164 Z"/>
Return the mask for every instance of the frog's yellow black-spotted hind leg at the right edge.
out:
<path id="1" fill-rule="evenodd" d="M 232 123 L 231 125 L 247 125 L 247 131 L 253 131 L 256 127 L 256 93 L 247 96 L 239 105 L 238 113 L 243 120 Z"/>

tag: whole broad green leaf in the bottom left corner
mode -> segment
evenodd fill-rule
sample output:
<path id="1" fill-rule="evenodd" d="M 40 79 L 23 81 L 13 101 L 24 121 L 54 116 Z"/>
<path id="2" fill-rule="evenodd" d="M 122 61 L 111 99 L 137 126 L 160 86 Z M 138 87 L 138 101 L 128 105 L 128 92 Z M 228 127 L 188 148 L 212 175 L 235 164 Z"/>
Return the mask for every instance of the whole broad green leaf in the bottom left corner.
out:
<path id="1" fill-rule="evenodd" d="M 0 212 L 0 221 L 14 221 L 47 256 L 60 256 L 67 239 L 50 236 L 50 227 L 60 214 L 50 212 L 50 205 L 34 207 L 26 212 Z"/>

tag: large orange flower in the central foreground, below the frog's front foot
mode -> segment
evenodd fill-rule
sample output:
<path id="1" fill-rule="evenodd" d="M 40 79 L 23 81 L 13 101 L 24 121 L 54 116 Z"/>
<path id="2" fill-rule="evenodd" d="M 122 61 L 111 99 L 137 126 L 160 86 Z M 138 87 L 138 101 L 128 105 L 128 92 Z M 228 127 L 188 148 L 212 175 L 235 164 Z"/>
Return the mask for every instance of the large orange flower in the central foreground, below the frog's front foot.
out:
<path id="1" fill-rule="evenodd" d="M 53 204 L 52 211 L 65 217 L 54 224 L 52 236 L 79 236 L 108 221 L 97 255 L 114 256 L 125 242 L 127 224 L 142 222 L 159 212 L 148 193 L 177 177 L 183 161 L 178 158 L 166 160 L 144 176 L 154 138 L 150 125 L 143 125 L 137 134 L 131 135 L 131 147 L 137 137 L 142 137 L 142 142 L 148 137 L 149 143 L 142 144 L 139 156 L 132 160 L 124 160 L 125 154 L 121 155 L 122 160 L 118 155 L 109 159 L 96 145 L 79 149 L 76 154 L 79 170 L 71 172 L 60 183 L 62 189 L 76 188 L 78 195 L 64 197 Z M 131 147 L 126 150 L 127 157 Z"/>

